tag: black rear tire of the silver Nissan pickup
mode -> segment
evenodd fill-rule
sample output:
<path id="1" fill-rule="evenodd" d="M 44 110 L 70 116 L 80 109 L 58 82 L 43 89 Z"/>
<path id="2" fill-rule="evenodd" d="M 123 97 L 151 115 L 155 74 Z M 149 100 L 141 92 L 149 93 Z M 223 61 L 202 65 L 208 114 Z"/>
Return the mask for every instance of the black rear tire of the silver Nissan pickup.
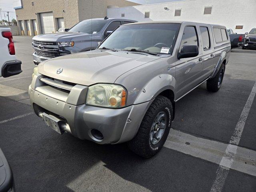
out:
<path id="1" fill-rule="evenodd" d="M 222 84 L 222 80 L 224 78 L 224 72 L 225 72 L 225 65 L 222 64 L 220 66 L 220 69 L 218 70 L 218 73 L 216 74 L 216 76 L 212 79 L 207 80 L 206 88 L 207 88 L 208 91 L 217 92 L 220 89 L 221 84 Z M 221 74 L 222 74 L 222 79 L 221 79 L 221 82 L 220 82 L 220 85 L 219 85 L 218 81 L 219 81 L 219 77 L 220 77 Z"/>

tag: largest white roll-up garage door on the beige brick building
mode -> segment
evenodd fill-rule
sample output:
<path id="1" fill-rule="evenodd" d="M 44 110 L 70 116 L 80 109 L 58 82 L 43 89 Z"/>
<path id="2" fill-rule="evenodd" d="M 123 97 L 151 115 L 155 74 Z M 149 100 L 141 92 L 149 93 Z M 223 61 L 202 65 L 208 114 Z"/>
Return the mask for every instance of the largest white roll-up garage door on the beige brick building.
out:
<path id="1" fill-rule="evenodd" d="M 54 19 L 52 12 L 40 13 L 42 33 L 54 33 Z"/>

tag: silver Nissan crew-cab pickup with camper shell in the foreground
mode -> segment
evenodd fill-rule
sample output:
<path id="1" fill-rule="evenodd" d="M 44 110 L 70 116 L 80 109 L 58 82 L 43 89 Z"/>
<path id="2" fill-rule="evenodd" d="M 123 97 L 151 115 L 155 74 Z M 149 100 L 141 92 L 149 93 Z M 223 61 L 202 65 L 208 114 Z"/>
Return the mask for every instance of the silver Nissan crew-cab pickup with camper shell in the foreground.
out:
<path id="1" fill-rule="evenodd" d="M 96 50 L 40 63 L 30 101 L 35 114 L 60 134 L 98 144 L 128 142 L 149 158 L 166 141 L 176 101 L 203 82 L 218 91 L 229 56 L 224 26 L 126 24 Z"/>

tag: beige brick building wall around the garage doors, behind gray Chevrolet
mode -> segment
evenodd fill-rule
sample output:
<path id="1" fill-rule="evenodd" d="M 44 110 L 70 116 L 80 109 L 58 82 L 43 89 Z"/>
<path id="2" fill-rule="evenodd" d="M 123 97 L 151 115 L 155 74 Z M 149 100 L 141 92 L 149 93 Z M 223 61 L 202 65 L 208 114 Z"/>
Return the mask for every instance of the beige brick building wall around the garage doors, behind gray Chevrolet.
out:
<path id="1" fill-rule="evenodd" d="M 34 6 L 32 6 L 34 2 Z M 16 9 L 18 25 L 24 22 L 24 32 L 19 33 L 28 35 L 26 21 L 29 20 L 33 28 L 32 20 L 36 20 L 38 34 L 42 34 L 40 13 L 52 12 L 54 17 L 54 28 L 58 30 L 57 18 L 64 18 L 65 28 L 70 28 L 79 21 L 90 18 L 104 18 L 107 16 L 108 6 L 135 6 L 138 5 L 126 0 L 22 0 L 22 8 Z M 34 36 L 34 31 L 31 30 Z"/>

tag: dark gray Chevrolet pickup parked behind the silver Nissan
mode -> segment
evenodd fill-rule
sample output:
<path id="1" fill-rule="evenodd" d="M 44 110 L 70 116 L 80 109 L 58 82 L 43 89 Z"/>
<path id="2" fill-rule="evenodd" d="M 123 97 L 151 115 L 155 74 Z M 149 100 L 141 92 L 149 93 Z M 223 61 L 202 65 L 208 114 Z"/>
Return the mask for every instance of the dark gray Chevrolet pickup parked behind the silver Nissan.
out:
<path id="1" fill-rule="evenodd" d="M 134 22 L 136 21 L 107 17 L 88 19 L 74 25 L 68 32 L 34 36 L 34 64 L 38 65 L 58 56 L 94 50 L 98 47 L 98 42 L 102 42 L 117 27 Z"/>

